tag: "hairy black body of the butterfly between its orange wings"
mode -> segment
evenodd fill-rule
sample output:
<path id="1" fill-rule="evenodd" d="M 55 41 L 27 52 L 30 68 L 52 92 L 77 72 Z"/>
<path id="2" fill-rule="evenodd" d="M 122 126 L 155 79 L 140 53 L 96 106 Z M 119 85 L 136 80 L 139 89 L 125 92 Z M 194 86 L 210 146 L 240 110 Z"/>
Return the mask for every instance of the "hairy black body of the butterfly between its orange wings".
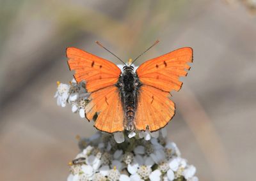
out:
<path id="1" fill-rule="evenodd" d="M 134 72 L 132 66 L 125 66 L 124 72 L 120 75 L 116 87 L 122 100 L 124 110 L 124 127 L 126 130 L 134 131 L 134 115 L 138 104 L 138 93 L 141 82 Z"/>

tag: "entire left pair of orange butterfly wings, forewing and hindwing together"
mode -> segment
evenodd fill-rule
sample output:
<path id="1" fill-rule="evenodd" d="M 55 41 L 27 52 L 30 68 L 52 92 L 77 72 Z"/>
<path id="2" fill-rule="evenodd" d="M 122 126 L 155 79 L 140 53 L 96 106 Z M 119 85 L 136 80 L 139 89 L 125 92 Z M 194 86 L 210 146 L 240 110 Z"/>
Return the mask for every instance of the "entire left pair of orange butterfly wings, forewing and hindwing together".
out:
<path id="1" fill-rule="evenodd" d="M 113 62 L 74 47 L 67 48 L 67 57 L 70 70 L 76 71 L 74 78 L 77 82 L 84 80 L 91 93 L 90 103 L 84 108 L 86 118 L 90 121 L 99 113 L 94 125 L 97 129 L 108 133 L 123 131 L 124 113 L 115 86 L 121 70 Z"/>

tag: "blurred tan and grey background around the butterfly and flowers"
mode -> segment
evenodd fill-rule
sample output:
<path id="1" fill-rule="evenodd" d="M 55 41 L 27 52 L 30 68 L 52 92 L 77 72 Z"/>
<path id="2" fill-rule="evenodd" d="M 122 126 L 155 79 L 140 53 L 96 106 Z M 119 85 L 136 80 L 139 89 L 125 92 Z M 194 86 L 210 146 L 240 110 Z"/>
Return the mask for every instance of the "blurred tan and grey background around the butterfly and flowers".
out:
<path id="1" fill-rule="evenodd" d="M 256 17 L 246 2 L 0 1 L 0 180 L 66 180 L 76 135 L 96 130 L 56 105 L 56 81 L 72 79 L 66 47 L 117 63 L 96 40 L 125 61 L 160 40 L 137 65 L 193 47 L 168 136 L 200 180 L 255 180 Z"/>

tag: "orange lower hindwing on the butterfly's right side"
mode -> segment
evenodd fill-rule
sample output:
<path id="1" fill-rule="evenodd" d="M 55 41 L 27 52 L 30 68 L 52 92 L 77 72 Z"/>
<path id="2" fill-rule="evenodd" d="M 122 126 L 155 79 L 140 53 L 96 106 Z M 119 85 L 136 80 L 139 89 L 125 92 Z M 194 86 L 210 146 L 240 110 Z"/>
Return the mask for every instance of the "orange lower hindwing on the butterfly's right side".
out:
<path id="1" fill-rule="evenodd" d="M 166 126 L 175 113 L 175 105 L 168 96 L 170 93 L 142 85 L 138 96 L 135 125 L 138 130 L 156 131 Z"/>

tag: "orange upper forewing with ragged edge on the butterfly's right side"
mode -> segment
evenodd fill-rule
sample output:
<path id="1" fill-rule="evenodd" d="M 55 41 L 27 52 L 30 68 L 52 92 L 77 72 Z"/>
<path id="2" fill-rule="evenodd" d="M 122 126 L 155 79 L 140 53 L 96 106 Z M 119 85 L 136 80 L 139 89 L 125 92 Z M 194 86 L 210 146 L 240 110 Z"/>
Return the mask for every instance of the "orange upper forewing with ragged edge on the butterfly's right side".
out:
<path id="1" fill-rule="evenodd" d="M 141 83 L 151 85 L 166 92 L 179 91 L 180 76 L 186 76 L 192 62 L 192 48 L 180 48 L 168 54 L 144 62 L 136 70 Z"/>

